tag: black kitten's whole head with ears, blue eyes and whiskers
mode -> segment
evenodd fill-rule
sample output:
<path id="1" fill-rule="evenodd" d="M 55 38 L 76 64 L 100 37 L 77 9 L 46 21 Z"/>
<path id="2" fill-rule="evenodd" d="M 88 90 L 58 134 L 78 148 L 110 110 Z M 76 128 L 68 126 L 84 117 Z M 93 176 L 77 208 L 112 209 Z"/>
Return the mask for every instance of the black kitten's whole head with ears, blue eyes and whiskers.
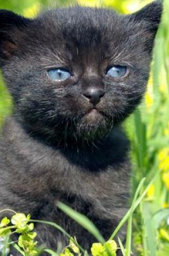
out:
<path id="1" fill-rule="evenodd" d="M 106 135 L 144 94 L 161 11 L 159 2 L 126 16 L 80 6 L 35 19 L 0 11 L 0 63 L 16 114 L 53 138 Z"/>

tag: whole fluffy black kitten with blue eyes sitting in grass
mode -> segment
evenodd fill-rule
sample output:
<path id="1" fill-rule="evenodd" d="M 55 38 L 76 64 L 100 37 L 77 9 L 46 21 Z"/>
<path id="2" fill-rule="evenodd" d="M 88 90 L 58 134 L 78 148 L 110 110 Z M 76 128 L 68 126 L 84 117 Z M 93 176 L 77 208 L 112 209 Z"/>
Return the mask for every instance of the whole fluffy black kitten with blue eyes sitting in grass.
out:
<path id="1" fill-rule="evenodd" d="M 0 64 L 14 101 L 0 146 L 1 209 L 52 220 L 90 250 L 94 238 L 57 209 L 60 200 L 109 238 L 128 202 L 119 124 L 144 94 L 161 10 L 78 6 L 35 19 L 1 10 Z M 68 242 L 51 227 L 36 231 L 48 247 Z"/>

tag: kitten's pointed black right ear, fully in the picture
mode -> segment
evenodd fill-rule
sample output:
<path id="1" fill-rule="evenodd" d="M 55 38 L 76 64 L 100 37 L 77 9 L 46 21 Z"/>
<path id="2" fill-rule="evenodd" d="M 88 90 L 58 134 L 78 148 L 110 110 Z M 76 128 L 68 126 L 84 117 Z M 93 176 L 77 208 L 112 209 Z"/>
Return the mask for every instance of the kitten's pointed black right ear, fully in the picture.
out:
<path id="1" fill-rule="evenodd" d="M 153 40 L 159 27 L 162 12 L 163 4 L 161 1 L 155 1 L 130 16 L 131 19 L 142 24 L 150 51 L 152 50 Z"/>

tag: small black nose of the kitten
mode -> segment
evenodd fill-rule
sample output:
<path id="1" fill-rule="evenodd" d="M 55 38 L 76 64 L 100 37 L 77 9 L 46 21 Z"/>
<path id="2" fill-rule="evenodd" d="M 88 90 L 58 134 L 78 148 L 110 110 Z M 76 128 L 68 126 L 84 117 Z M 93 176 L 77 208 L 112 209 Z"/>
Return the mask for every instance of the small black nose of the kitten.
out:
<path id="1" fill-rule="evenodd" d="M 105 91 L 102 89 L 87 89 L 87 91 L 83 92 L 83 95 L 90 100 L 93 105 L 99 103 L 100 99 L 105 95 Z"/>

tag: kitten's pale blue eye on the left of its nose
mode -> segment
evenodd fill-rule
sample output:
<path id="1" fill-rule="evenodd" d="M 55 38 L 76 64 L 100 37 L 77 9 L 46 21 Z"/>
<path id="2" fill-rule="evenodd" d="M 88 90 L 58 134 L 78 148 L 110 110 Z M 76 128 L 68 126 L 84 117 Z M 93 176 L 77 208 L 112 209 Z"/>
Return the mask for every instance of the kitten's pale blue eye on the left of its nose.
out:
<path id="1" fill-rule="evenodd" d="M 71 73 L 64 68 L 52 68 L 51 70 L 48 70 L 47 73 L 50 79 L 58 82 L 67 80 L 71 77 Z"/>

